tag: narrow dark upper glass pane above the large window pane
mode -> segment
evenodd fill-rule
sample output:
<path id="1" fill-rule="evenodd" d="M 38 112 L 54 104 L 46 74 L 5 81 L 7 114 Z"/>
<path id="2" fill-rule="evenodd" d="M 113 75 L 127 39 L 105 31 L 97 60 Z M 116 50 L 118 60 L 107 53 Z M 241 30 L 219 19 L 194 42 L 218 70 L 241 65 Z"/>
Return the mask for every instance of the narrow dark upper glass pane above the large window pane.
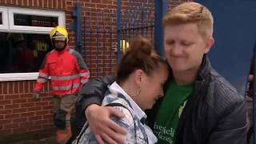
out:
<path id="1" fill-rule="evenodd" d="M 58 26 L 58 17 L 14 14 L 14 25 L 55 27 Z"/>

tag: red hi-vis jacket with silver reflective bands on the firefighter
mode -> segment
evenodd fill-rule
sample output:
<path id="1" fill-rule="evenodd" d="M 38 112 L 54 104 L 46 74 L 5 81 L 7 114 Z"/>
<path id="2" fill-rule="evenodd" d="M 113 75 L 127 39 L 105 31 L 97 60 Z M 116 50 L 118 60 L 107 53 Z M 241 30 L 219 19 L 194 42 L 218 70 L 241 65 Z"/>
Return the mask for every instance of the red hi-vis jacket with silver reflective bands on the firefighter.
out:
<path id="1" fill-rule="evenodd" d="M 80 87 L 88 82 L 90 72 L 81 55 L 66 46 L 65 50 L 51 50 L 46 54 L 34 92 L 41 92 L 49 77 L 53 95 L 62 98 L 68 94 L 78 94 Z"/>

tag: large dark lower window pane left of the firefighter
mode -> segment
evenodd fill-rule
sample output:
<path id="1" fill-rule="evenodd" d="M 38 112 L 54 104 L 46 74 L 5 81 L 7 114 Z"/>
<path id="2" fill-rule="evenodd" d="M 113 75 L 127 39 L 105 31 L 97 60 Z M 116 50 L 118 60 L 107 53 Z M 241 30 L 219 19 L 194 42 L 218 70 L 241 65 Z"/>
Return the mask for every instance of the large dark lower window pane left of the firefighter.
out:
<path id="1" fill-rule="evenodd" d="M 50 50 L 49 34 L 0 33 L 0 73 L 38 72 Z"/>

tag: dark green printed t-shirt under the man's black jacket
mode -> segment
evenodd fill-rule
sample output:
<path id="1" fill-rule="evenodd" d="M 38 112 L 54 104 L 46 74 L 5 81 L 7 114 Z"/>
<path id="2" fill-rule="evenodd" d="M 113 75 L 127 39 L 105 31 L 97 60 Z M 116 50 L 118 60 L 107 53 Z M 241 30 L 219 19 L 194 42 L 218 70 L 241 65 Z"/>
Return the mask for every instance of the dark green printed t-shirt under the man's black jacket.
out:
<path id="1" fill-rule="evenodd" d="M 175 130 L 187 99 L 194 92 L 194 83 L 178 85 L 170 83 L 165 98 L 154 122 L 154 134 L 158 137 L 158 144 L 174 144 Z"/>

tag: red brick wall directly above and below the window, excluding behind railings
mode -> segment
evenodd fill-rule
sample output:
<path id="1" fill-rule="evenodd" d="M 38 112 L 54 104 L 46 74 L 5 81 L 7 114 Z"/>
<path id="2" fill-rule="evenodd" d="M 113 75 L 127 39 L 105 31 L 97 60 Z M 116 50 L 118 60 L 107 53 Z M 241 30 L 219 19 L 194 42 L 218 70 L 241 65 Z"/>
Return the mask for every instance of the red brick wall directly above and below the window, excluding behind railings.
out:
<path id="1" fill-rule="evenodd" d="M 0 0 L 0 3 L 7 6 L 66 10 L 66 0 Z M 69 25 L 66 23 L 66 26 Z M 37 102 L 32 100 L 31 95 L 34 84 L 35 81 L 0 82 L 0 143 L 53 134 L 50 84 L 46 83 Z"/>

